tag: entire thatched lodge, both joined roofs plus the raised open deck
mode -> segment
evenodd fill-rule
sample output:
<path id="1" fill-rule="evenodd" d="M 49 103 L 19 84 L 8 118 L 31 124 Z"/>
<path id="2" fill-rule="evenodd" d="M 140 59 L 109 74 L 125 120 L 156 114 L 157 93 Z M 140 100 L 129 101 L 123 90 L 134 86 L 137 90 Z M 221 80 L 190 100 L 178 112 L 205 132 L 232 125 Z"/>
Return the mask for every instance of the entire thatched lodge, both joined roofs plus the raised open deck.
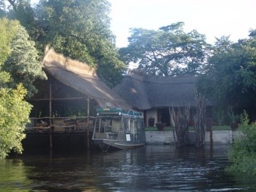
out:
<path id="1" fill-rule="evenodd" d="M 85 143 L 89 148 L 98 107 L 141 111 L 146 126 L 159 121 L 169 126 L 171 106 L 189 105 L 193 117 L 195 77 L 152 77 L 133 70 L 110 89 L 95 69 L 53 49 L 46 49 L 42 65 L 48 79 L 34 83 L 38 93 L 29 99 L 33 109 L 25 148 L 45 149 L 48 145 L 50 150 L 54 146 L 74 149 Z M 193 118 L 190 120 L 193 124 Z"/>

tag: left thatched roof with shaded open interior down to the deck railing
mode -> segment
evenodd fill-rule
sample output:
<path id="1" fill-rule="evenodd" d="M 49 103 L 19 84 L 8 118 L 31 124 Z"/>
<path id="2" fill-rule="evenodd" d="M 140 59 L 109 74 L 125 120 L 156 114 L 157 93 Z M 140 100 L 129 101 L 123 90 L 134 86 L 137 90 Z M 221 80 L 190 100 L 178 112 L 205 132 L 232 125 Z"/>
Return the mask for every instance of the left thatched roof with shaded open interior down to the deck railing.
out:
<path id="1" fill-rule="evenodd" d="M 38 93 L 29 100 L 34 106 L 31 117 L 86 116 L 87 98 L 91 115 L 95 115 L 97 107 L 131 109 L 86 63 L 46 49 L 42 65 L 48 80 L 35 82 Z"/>

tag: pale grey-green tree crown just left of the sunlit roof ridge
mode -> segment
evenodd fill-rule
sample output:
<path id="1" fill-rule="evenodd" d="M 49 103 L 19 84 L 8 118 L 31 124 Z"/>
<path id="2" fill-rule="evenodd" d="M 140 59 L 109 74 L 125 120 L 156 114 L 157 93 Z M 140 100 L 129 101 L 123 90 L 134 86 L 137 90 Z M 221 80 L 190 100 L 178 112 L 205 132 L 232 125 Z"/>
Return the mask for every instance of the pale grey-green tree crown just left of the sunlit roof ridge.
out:
<path id="1" fill-rule="evenodd" d="M 11 41 L 11 53 L 3 65 L 13 78 L 13 86 L 23 83 L 27 90 L 27 98 L 37 93 L 33 85 L 35 79 L 46 79 L 42 71 L 41 62 L 38 61 L 38 52 L 34 41 L 29 40 L 29 34 L 24 27 L 19 26 L 17 34 Z"/>

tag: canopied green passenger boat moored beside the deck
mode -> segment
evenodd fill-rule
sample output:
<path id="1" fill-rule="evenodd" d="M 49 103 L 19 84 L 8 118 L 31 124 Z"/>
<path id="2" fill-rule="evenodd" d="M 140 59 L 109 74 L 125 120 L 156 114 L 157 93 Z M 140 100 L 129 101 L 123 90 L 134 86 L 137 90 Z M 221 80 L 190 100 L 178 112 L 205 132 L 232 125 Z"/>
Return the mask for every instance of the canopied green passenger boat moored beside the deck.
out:
<path id="1" fill-rule="evenodd" d="M 93 141 L 102 150 L 109 147 L 131 149 L 145 145 L 144 122 L 141 113 L 118 108 L 97 109 Z"/>

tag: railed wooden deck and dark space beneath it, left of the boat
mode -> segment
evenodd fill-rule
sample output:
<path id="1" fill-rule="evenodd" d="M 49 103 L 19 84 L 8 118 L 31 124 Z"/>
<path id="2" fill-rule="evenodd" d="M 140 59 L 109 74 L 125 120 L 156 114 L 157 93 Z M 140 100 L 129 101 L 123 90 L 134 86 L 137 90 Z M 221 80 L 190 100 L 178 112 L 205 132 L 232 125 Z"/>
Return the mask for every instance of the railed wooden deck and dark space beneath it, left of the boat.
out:
<path id="1" fill-rule="evenodd" d="M 25 133 L 25 150 L 89 148 L 94 117 L 30 118 Z"/>

